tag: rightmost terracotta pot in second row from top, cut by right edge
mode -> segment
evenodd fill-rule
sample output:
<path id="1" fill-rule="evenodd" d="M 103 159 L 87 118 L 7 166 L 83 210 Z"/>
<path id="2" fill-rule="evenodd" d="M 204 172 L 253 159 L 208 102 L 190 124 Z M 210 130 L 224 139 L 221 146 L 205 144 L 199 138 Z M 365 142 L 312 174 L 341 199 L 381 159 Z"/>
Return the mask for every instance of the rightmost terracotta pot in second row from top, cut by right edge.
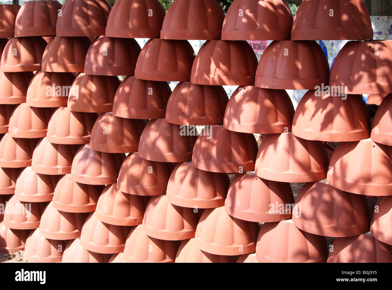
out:
<path id="1" fill-rule="evenodd" d="M 330 86 L 348 94 L 392 93 L 392 41 L 349 41 L 332 66 Z"/>

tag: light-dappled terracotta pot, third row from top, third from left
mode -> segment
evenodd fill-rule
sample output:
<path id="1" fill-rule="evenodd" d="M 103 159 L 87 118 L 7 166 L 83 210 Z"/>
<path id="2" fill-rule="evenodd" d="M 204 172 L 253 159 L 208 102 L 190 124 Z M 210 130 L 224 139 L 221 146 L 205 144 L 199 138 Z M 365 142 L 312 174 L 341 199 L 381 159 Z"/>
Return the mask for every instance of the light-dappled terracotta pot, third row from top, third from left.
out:
<path id="1" fill-rule="evenodd" d="M 111 112 L 119 85 L 120 80 L 114 76 L 80 73 L 72 84 L 68 108 L 76 112 Z"/>

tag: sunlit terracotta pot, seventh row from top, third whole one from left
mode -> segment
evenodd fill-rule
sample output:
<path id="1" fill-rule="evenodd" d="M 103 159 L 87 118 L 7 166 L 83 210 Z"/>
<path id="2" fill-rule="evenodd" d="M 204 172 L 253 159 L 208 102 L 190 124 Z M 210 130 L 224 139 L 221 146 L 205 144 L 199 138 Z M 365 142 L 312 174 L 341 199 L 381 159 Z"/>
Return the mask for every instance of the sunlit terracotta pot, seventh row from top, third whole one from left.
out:
<path id="1" fill-rule="evenodd" d="M 83 225 L 80 244 L 95 253 L 121 253 L 131 229 L 132 227 L 105 224 L 98 220 L 95 213 L 91 213 Z"/>

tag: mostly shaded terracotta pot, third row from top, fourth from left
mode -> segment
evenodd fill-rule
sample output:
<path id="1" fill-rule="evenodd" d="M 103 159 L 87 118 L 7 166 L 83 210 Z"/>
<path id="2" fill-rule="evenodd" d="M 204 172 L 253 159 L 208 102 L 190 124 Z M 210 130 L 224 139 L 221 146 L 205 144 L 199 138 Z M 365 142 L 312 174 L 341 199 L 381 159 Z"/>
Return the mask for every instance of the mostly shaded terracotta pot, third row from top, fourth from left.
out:
<path id="1" fill-rule="evenodd" d="M 128 76 L 114 95 L 113 115 L 129 119 L 164 118 L 170 94 L 167 82 L 145 81 Z"/>

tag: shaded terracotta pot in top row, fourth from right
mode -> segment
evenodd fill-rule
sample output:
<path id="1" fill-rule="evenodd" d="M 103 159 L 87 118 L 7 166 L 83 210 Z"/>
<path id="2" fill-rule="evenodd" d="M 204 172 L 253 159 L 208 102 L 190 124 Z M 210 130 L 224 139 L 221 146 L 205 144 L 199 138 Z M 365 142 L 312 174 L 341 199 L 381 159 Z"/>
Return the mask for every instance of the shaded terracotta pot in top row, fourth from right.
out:
<path id="1" fill-rule="evenodd" d="M 158 0 L 117 0 L 107 18 L 105 35 L 159 38 L 165 11 Z"/>

